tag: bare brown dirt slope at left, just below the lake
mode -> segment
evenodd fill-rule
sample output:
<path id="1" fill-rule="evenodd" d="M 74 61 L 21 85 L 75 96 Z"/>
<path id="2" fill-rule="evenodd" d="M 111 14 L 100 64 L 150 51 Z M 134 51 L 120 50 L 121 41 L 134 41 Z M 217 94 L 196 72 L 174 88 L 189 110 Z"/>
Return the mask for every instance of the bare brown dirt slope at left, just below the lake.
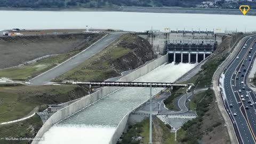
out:
<path id="1" fill-rule="evenodd" d="M 105 34 L 0 37 L 0 68 L 17 66 L 45 55 L 81 51 L 103 35 Z"/>

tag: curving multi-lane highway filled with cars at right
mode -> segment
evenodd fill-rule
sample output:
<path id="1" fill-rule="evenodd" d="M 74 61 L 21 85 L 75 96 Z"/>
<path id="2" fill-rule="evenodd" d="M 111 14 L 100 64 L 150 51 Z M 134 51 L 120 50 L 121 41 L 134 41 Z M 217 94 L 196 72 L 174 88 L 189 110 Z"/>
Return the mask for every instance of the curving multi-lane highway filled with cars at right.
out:
<path id="1" fill-rule="evenodd" d="M 255 41 L 256 36 L 245 40 L 219 78 L 223 102 L 233 122 L 238 141 L 246 144 L 256 143 L 256 96 L 246 85 L 246 78 L 255 58 Z"/>

